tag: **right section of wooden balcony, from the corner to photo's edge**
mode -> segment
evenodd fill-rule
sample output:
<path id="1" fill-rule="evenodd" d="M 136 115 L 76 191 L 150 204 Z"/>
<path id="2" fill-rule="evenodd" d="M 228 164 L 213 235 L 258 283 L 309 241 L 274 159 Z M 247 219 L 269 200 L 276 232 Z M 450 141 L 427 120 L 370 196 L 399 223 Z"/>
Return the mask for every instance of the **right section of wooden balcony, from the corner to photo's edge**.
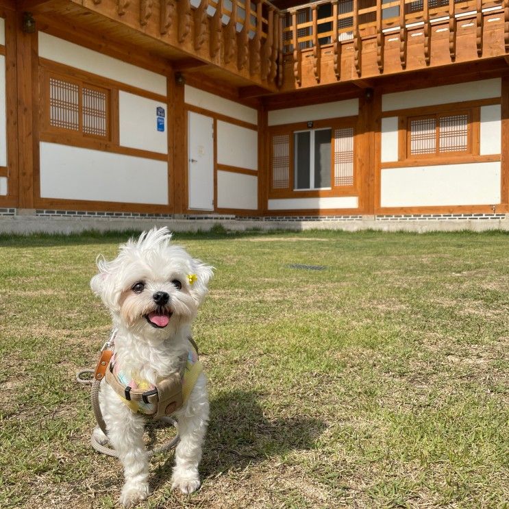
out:
<path id="1" fill-rule="evenodd" d="M 322 0 L 280 12 L 282 90 L 502 57 L 508 0 Z"/>

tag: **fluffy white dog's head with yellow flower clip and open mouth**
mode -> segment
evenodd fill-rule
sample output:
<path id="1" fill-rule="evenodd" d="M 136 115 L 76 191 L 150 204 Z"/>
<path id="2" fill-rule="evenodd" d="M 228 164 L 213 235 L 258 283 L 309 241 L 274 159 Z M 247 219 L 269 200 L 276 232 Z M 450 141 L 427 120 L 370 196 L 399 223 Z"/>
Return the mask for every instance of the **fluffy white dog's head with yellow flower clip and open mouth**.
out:
<path id="1" fill-rule="evenodd" d="M 115 321 L 138 334 L 172 336 L 193 320 L 207 295 L 212 267 L 170 240 L 168 228 L 153 228 L 121 245 L 114 260 L 97 259 L 92 290 Z"/>

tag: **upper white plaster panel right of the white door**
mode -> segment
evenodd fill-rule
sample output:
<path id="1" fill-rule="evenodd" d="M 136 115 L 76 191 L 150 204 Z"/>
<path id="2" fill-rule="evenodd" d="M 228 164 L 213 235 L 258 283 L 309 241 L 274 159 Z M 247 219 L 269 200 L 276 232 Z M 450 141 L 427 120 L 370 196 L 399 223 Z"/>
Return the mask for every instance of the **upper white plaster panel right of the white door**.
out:
<path id="1" fill-rule="evenodd" d="M 258 132 L 228 122 L 217 122 L 217 162 L 258 170 Z"/>

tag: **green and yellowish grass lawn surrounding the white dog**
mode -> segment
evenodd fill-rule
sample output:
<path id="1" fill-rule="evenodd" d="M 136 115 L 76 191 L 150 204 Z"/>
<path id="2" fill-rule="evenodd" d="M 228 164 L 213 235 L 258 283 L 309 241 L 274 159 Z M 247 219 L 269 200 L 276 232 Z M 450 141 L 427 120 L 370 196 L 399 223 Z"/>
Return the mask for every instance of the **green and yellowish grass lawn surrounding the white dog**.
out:
<path id="1" fill-rule="evenodd" d="M 0 237 L 2 508 L 115 506 L 75 369 L 110 330 L 95 257 L 126 238 Z M 509 508 L 508 235 L 175 238 L 216 267 L 203 486 L 171 492 L 156 457 L 140 508 Z"/>

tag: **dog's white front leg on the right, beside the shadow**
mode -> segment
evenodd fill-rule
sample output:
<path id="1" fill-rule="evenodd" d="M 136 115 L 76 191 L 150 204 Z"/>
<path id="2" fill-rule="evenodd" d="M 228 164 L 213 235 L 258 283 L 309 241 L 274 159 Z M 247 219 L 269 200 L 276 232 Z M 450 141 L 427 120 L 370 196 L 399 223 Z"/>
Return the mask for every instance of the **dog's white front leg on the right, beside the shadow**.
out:
<path id="1" fill-rule="evenodd" d="M 171 477 L 171 487 L 182 493 L 193 493 L 200 486 L 198 465 L 201 460 L 201 446 L 208 425 L 207 380 L 202 374 L 198 378 L 186 405 L 175 417 L 180 436 L 175 449 L 175 467 Z"/>

